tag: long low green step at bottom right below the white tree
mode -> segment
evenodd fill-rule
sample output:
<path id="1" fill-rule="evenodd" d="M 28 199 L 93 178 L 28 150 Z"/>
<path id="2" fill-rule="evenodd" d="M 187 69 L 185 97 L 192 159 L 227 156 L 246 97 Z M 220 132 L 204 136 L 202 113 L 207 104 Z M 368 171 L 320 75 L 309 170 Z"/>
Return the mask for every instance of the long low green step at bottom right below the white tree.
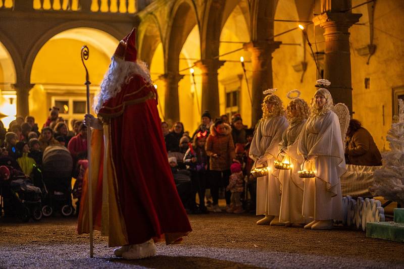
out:
<path id="1" fill-rule="evenodd" d="M 366 224 L 366 236 L 404 242 L 404 224 L 393 222 L 369 222 Z"/>

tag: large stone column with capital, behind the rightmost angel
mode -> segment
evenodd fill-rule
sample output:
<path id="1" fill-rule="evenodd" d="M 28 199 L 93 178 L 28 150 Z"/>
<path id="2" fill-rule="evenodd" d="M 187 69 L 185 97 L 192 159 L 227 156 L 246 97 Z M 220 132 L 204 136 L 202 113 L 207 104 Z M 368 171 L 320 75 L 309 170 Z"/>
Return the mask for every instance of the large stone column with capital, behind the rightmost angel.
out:
<path id="1" fill-rule="evenodd" d="M 315 25 L 324 29 L 324 78 L 331 81 L 329 90 L 334 103 L 346 104 L 352 113 L 349 27 L 358 22 L 362 14 L 338 12 L 329 8 L 329 11 L 313 19 Z"/>

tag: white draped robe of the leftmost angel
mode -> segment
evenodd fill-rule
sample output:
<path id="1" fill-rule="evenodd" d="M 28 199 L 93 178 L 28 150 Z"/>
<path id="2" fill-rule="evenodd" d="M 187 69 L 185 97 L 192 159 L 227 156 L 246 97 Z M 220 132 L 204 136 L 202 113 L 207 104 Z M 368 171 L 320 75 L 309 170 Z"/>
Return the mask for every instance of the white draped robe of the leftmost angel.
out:
<path id="1" fill-rule="evenodd" d="M 280 183 L 272 175 L 274 159 L 278 154 L 278 145 L 288 122 L 283 116 L 261 119 L 252 138 L 249 157 L 256 162 L 265 155 L 268 158 L 269 175 L 257 178 L 257 215 L 279 216 L 281 202 Z"/>

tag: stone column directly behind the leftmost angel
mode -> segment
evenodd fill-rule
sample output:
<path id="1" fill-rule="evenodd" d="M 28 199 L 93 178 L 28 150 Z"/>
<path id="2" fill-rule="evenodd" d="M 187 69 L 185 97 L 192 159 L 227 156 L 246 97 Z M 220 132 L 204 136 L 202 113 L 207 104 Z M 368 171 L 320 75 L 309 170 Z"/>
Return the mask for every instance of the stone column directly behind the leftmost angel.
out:
<path id="1" fill-rule="evenodd" d="M 263 91 L 273 88 L 272 52 L 281 43 L 281 41 L 252 41 L 244 44 L 244 49 L 251 52 L 251 126 L 255 126 L 262 117 Z"/>

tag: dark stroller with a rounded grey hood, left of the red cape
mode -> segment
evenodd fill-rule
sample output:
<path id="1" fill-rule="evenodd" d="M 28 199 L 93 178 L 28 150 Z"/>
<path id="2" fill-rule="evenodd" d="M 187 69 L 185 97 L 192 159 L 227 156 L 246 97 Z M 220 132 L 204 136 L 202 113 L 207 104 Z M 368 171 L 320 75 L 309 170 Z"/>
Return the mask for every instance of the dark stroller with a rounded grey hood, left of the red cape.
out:
<path id="1" fill-rule="evenodd" d="M 42 207 L 43 216 L 49 217 L 59 210 L 65 217 L 73 214 L 72 168 L 72 156 L 64 146 L 48 146 L 43 152 L 42 176 L 47 188 Z"/>

